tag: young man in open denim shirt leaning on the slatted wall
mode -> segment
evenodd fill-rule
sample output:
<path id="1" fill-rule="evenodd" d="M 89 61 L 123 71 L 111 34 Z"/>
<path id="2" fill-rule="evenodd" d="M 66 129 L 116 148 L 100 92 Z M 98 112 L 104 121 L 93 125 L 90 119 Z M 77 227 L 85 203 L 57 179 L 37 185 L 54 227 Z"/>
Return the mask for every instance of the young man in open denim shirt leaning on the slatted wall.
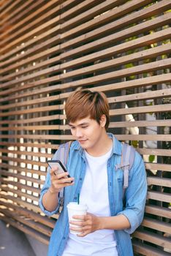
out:
<path id="1" fill-rule="evenodd" d="M 142 222 L 147 192 L 145 167 L 135 152 L 129 170 L 129 187 L 123 206 L 122 143 L 108 134 L 109 105 L 101 92 L 75 91 L 66 101 L 66 118 L 75 141 L 72 142 L 66 173 L 47 173 L 39 204 L 47 215 L 58 212 L 58 192 L 65 188 L 64 207 L 50 238 L 49 256 L 132 256 L 130 234 Z M 53 159 L 56 159 L 56 155 Z M 69 183 L 68 181 L 72 181 Z M 66 205 L 77 201 L 88 206 L 86 216 L 75 216 L 69 232 Z M 81 220 L 81 221 L 80 221 Z"/>

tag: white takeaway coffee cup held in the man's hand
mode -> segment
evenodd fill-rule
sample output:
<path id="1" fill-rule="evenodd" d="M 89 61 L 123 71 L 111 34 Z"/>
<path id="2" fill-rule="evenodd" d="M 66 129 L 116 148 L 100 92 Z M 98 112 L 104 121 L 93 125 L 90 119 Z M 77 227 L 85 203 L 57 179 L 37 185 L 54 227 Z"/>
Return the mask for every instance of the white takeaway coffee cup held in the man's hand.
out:
<path id="1" fill-rule="evenodd" d="M 76 202 L 70 202 L 66 207 L 68 209 L 69 222 L 72 221 L 72 220 L 79 222 L 79 221 L 81 221 L 81 219 L 73 219 L 72 216 L 74 216 L 74 215 L 86 215 L 86 213 L 87 213 L 87 206 L 85 204 L 82 204 L 82 203 L 78 204 Z M 79 226 L 69 223 L 69 227 L 79 227 Z M 82 231 L 70 230 L 70 233 L 77 235 L 77 234 L 82 233 Z"/>

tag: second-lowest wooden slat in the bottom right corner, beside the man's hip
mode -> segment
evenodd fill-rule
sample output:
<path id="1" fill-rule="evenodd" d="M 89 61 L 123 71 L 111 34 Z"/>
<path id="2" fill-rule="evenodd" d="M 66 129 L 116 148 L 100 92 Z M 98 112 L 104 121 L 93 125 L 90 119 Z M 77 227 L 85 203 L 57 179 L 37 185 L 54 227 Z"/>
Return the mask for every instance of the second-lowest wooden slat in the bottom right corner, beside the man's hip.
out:
<path id="1" fill-rule="evenodd" d="M 151 244 L 164 247 L 164 249 L 171 249 L 171 239 L 159 236 L 155 233 L 148 231 L 135 231 L 133 234 L 134 238 L 139 238 L 142 241 L 148 241 Z"/>

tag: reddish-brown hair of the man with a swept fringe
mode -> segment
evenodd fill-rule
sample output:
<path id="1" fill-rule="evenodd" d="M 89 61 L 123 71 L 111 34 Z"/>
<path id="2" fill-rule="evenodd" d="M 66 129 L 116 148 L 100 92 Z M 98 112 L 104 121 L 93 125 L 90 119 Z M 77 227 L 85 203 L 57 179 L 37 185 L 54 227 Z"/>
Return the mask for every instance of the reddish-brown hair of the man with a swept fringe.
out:
<path id="1" fill-rule="evenodd" d="M 99 91 L 90 91 L 88 89 L 75 91 L 66 100 L 65 112 L 69 122 L 75 122 L 90 116 L 100 124 L 101 116 L 105 115 L 107 119 L 105 129 L 109 126 L 107 97 Z"/>

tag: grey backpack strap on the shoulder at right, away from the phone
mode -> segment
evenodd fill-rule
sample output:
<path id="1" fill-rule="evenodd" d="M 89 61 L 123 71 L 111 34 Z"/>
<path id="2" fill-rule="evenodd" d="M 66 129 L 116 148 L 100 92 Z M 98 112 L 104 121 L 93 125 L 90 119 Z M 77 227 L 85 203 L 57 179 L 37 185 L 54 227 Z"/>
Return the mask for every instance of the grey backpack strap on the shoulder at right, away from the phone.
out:
<path id="1" fill-rule="evenodd" d="M 129 170 L 132 169 L 134 164 L 135 149 L 126 143 L 123 143 L 122 157 L 126 161 L 126 165 L 123 165 L 123 199 L 125 196 L 126 188 L 129 187 Z"/>

